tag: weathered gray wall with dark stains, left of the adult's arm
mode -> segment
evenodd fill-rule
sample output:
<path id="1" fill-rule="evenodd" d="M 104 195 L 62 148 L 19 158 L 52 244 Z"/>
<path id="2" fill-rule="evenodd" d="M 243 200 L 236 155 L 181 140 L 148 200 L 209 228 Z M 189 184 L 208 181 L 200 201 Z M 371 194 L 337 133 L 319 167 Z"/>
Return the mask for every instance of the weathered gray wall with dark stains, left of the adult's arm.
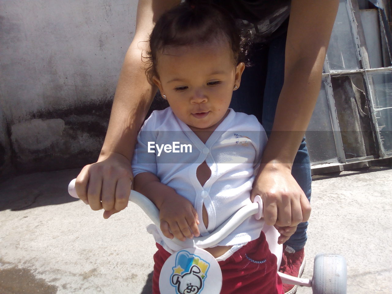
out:
<path id="1" fill-rule="evenodd" d="M 97 158 L 136 6 L 0 0 L 0 175 Z"/>

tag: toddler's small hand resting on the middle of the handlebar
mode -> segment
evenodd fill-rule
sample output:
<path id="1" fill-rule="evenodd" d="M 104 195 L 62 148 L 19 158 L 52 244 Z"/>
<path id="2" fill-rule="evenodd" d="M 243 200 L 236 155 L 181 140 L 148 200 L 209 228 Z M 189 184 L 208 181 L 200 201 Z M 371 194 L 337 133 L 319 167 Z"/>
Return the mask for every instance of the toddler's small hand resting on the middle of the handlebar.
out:
<path id="1" fill-rule="evenodd" d="M 165 196 L 160 207 L 161 230 L 165 237 L 185 241 L 200 235 L 199 217 L 190 201 L 180 195 Z"/>

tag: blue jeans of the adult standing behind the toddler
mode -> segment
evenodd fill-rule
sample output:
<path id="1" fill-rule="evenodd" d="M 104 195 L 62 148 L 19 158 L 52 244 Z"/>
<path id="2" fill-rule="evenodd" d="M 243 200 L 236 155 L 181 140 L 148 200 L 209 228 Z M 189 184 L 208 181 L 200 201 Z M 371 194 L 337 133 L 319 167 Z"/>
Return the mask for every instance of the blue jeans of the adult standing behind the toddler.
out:
<path id="1" fill-rule="evenodd" d="M 245 69 L 241 86 L 234 91 L 230 107 L 235 111 L 253 114 L 270 134 L 276 105 L 284 81 L 286 34 L 269 44 L 254 44 L 252 67 Z M 292 166 L 292 176 L 310 201 L 312 177 L 305 137 L 299 146 Z M 307 241 L 308 222 L 300 223 L 296 232 L 285 243 L 294 250 L 302 249 Z"/>

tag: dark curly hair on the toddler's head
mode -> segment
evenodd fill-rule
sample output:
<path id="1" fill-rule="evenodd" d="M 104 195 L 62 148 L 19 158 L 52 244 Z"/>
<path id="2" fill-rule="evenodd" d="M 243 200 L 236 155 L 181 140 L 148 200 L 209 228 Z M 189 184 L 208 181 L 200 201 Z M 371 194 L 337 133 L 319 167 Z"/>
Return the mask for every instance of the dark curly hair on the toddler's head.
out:
<path id="1" fill-rule="evenodd" d="M 176 5 L 159 18 L 150 35 L 150 51 L 145 57 L 149 82 L 152 83 L 153 76 L 158 76 L 157 56 L 165 47 L 207 44 L 221 38 L 229 43 L 235 65 L 240 62 L 250 65 L 249 32 L 241 31 L 226 10 L 207 2 L 196 5 L 183 2 Z"/>

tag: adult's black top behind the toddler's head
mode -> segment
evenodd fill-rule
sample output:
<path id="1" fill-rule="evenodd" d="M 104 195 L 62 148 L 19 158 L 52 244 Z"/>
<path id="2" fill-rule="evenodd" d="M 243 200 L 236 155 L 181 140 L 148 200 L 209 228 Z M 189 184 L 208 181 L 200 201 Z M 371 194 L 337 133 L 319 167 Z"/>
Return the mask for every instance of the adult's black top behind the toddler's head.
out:
<path id="1" fill-rule="evenodd" d="M 287 31 L 291 0 L 187 0 L 194 5 L 210 2 L 229 11 L 254 42 L 267 42 Z"/>

